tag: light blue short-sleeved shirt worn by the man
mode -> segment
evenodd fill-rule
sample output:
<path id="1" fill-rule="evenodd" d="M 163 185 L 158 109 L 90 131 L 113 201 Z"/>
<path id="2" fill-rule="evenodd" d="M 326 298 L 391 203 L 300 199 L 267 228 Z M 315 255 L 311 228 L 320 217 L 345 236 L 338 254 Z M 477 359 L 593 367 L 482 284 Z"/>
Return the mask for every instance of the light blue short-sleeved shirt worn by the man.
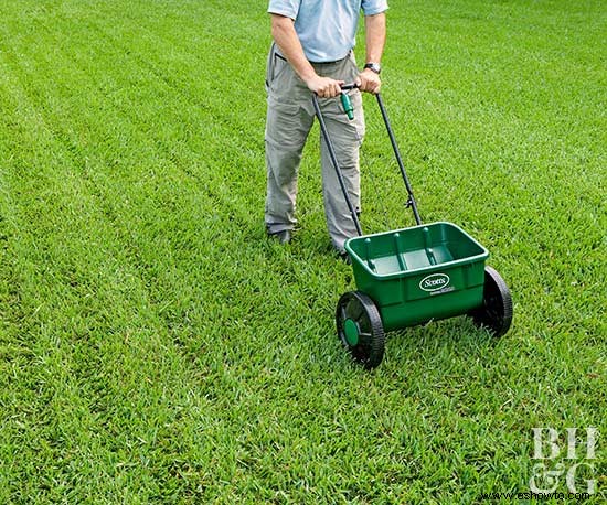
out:
<path id="1" fill-rule="evenodd" d="M 336 62 L 356 44 L 360 11 L 374 15 L 387 0 L 269 0 L 268 12 L 290 18 L 310 62 Z"/>

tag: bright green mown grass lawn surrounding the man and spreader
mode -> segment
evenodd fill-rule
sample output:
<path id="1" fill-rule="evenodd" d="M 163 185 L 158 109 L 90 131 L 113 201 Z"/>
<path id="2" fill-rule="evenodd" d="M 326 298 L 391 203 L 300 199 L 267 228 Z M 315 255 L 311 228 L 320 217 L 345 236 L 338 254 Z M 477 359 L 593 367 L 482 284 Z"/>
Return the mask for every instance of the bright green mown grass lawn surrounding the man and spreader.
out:
<path id="1" fill-rule="evenodd" d="M 392 2 L 422 215 L 488 247 L 515 319 L 396 332 L 374 373 L 334 334 L 318 130 L 297 239 L 265 239 L 265 9 L 0 3 L 0 503 L 473 503 L 529 490 L 533 427 L 589 426 L 600 503 L 604 2 Z M 368 232 L 413 224 L 375 112 Z"/>

